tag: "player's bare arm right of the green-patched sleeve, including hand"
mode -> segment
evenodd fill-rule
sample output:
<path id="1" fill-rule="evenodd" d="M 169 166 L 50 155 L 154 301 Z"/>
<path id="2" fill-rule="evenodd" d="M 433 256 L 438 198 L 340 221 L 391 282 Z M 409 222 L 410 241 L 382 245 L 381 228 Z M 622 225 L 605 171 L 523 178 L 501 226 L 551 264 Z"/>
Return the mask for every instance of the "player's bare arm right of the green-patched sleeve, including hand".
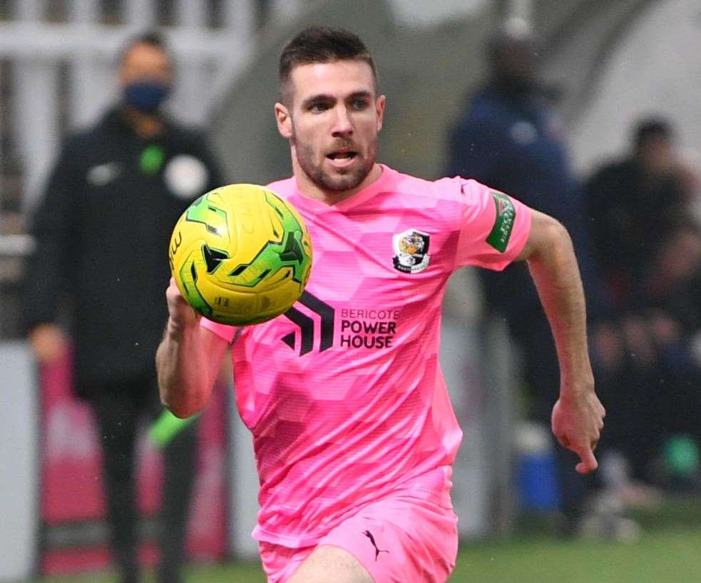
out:
<path id="1" fill-rule="evenodd" d="M 560 398 L 553 407 L 553 433 L 564 447 L 579 455 L 576 469 L 584 474 L 598 466 L 594 449 L 605 410 L 594 391 L 582 280 L 567 230 L 550 216 L 531 213 L 531 234 L 519 259 L 528 261 L 560 363 Z"/>

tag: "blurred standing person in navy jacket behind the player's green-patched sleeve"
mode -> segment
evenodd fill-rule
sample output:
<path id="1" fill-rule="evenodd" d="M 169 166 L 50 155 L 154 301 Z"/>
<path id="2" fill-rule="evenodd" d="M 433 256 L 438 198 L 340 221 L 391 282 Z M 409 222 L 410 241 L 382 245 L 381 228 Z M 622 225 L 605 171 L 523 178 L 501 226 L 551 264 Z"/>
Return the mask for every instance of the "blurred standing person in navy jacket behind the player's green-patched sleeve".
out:
<path id="1" fill-rule="evenodd" d="M 451 132 L 448 173 L 475 178 L 561 220 L 578 255 L 588 314 L 598 318 L 602 301 L 583 224 L 583 198 L 553 108 L 558 92 L 538 80 L 537 58 L 538 43 L 520 19 L 506 21 L 488 41 L 489 78 L 469 98 Z M 479 275 L 488 310 L 506 318 L 521 350 L 528 417 L 550 427 L 560 371 L 548 320 L 528 269 L 511 265 L 503 273 Z M 574 458 L 559 447 L 557 452 L 566 516 L 563 529 L 570 532 L 580 519 L 588 485 L 575 472 Z"/>

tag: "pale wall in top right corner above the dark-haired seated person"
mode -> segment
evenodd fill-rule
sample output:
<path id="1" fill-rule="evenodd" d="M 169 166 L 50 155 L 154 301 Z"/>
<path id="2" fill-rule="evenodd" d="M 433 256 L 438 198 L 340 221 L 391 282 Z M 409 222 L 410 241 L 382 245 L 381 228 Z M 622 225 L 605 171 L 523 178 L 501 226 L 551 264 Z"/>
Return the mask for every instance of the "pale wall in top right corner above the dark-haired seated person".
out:
<path id="1" fill-rule="evenodd" d="M 571 132 L 575 166 L 588 173 L 627 151 L 640 116 L 663 114 L 682 147 L 701 152 L 701 2 L 660 0 L 610 55 L 593 99 Z"/>

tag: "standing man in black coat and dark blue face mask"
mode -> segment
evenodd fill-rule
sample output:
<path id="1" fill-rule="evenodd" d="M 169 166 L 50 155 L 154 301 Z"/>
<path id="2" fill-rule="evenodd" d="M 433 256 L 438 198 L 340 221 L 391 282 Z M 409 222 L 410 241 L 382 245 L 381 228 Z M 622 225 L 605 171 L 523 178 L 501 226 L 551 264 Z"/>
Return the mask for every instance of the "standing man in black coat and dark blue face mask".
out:
<path id="1" fill-rule="evenodd" d="M 68 137 L 48 178 L 33 225 L 42 268 L 29 270 L 26 318 L 39 363 L 65 358 L 56 319 L 68 296 L 76 393 L 100 433 L 113 556 L 121 582 L 135 583 L 135 437 L 163 410 L 154 355 L 167 316 L 168 240 L 188 203 L 222 177 L 203 135 L 160 109 L 173 62 L 158 34 L 128 42 L 118 82 L 121 101 Z M 193 423 L 165 447 L 160 583 L 181 580 L 195 436 Z"/>

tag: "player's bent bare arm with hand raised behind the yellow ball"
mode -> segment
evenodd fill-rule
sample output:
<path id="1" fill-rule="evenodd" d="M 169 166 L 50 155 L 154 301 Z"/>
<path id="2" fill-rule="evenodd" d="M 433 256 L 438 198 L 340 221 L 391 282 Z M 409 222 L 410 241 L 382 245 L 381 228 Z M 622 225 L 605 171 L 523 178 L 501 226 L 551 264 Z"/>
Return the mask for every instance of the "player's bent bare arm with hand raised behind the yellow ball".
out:
<path id="1" fill-rule="evenodd" d="M 165 298 L 168 325 L 155 355 L 160 400 L 173 415 L 190 417 L 208 405 L 228 343 L 200 326 L 172 278 Z"/>

